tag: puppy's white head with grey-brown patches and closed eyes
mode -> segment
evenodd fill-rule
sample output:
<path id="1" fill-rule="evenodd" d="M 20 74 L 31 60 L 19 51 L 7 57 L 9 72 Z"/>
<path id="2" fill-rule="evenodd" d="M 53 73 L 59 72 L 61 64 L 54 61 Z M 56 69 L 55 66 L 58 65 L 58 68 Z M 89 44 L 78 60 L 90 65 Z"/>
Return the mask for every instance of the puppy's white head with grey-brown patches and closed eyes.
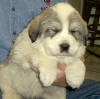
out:
<path id="1" fill-rule="evenodd" d="M 31 22 L 29 35 L 33 43 L 41 39 L 49 55 L 80 57 L 85 51 L 87 26 L 72 6 L 58 3 Z"/>

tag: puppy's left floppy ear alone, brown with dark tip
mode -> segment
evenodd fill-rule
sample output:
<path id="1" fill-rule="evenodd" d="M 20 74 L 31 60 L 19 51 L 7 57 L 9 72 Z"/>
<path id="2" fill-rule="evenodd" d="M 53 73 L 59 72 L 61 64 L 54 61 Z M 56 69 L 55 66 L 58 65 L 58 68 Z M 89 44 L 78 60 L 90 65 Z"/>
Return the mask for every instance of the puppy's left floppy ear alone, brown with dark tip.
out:
<path id="1" fill-rule="evenodd" d="M 41 20 L 41 15 L 37 16 L 35 19 L 33 19 L 29 24 L 29 37 L 32 42 L 35 42 L 39 36 L 39 24 Z"/>

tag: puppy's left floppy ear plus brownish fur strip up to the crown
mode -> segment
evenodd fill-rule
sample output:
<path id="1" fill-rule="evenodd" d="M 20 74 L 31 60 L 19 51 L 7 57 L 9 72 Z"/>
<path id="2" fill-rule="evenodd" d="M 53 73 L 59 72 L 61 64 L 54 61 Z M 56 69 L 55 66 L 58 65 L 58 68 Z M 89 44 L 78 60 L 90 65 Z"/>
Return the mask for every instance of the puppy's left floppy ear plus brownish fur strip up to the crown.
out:
<path id="1" fill-rule="evenodd" d="M 52 15 L 52 9 L 51 7 L 46 8 L 45 11 L 43 11 L 40 15 L 35 17 L 30 23 L 29 23 L 29 37 L 32 42 L 35 42 L 38 37 L 41 36 L 40 33 L 40 24 L 43 20 L 45 20 L 47 17 Z"/>

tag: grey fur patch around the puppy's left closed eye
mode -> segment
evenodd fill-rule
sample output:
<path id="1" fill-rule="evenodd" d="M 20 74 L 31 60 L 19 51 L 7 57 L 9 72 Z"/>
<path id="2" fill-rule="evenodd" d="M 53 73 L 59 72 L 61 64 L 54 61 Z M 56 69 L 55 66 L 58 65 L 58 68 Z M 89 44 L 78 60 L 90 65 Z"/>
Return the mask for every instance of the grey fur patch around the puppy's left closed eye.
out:
<path id="1" fill-rule="evenodd" d="M 44 33 L 44 37 L 52 38 L 61 31 L 61 22 L 54 14 L 46 17 L 40 24 L 40 32 Z"/>

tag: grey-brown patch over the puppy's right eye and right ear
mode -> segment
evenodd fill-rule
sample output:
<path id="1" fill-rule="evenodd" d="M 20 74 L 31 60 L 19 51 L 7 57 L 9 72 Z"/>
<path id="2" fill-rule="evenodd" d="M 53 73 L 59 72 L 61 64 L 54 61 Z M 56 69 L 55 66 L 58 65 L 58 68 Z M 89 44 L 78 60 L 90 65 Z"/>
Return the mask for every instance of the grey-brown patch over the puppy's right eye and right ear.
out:
<path id="1" fill-rule="evenodd" d="M 69 32 L 72 33 L 77 40 L 84 43 L 88 34 L 87 25 L 77 12 L 69 16 Z"/>

